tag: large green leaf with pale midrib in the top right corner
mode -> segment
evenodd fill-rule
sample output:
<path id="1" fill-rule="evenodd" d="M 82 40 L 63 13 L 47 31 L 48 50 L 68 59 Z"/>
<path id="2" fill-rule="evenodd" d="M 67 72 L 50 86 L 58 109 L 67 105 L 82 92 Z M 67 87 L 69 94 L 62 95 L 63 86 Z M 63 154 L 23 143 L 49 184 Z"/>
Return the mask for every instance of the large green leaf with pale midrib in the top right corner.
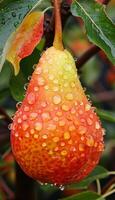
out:
<path id="1" fill-rule="evenodd" d="M 115 63 L 115 25 L 108 18 L 105 6 L 94 0 L 74 0 L 71 12 L 84 20 L 89 40 L 103 49 Z"/>

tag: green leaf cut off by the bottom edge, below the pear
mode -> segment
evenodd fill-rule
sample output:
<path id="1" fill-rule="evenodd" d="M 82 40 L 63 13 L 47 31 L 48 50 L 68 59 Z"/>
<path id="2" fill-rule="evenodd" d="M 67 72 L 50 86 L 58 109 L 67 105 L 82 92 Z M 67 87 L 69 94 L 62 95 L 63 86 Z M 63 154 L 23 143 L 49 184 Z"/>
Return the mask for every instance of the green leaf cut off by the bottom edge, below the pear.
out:
<path id="1" fill-rule="evenodd" d="M 104 200 L 103 197 L 101 197 L 100 195 L 98 195 L 95 192 L 82 192 L 80 194 L 76 194 L 70 197 L 66 197 L 60 200 Z"/>

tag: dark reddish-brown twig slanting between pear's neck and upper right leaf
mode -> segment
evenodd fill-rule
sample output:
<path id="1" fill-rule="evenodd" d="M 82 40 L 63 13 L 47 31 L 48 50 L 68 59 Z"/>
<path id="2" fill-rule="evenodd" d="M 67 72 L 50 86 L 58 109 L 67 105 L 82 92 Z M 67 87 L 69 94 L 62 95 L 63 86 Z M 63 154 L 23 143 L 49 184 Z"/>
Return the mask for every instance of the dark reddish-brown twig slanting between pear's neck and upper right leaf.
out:
<path id="1" fill-rule="evenodd" d="M 86 61 L 88 61 L 90 58 L 92 58 L 92 56 L 94 56 L 96 53 L 98 53 L 101 49 L 95 45 L 92 45 L 83 55 L 81 55 L 77 62 L 77 68 L 81 68 Z"/>

